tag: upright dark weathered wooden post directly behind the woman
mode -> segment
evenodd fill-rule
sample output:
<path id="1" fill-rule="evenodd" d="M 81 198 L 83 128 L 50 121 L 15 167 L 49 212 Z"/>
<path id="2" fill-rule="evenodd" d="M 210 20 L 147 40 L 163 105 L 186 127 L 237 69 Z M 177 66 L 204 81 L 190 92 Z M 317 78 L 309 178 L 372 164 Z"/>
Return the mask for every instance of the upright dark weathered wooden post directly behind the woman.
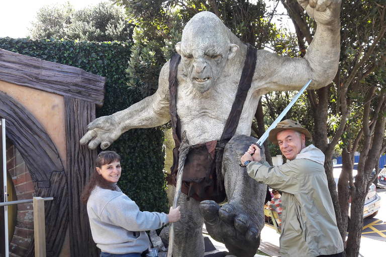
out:
<path id="1" fill-rule="evenodd" d="M 87 132 L 87 124 L 95 118 L 95 104 L 64 97 L 66 109 L 67 185 L 69 199 L 69 232 L 71 256 L 98 256 L 99 250 L 92 240 L 86 205 L 80 195 L 89 181 L 96 150 L 79 144 Z"/>

